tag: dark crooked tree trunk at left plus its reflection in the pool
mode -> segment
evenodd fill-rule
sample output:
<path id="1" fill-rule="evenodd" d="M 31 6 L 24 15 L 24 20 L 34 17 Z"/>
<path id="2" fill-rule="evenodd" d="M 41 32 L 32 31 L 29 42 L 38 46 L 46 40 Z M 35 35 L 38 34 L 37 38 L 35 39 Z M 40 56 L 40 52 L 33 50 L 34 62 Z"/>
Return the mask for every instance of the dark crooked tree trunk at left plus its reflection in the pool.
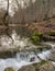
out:
<path id="1" fill-rule="evenodd" d="M 7 0 L 8 4 L 7 4 L 7 11 L 3 15 L 3 25 L 6 26 L 6 34 L 12 39 L 12 37 L 9 34 L 9 0 Z M 13 40 L 13 39 L 12 39 Z"/>

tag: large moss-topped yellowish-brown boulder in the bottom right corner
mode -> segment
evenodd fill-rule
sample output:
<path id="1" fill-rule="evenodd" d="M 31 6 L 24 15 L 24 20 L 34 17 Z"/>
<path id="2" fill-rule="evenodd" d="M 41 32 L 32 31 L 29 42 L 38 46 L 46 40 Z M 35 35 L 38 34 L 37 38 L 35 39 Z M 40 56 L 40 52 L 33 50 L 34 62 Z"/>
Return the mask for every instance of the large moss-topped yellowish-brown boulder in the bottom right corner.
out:
<path id="1" fill-rule="evenodd" d="M 51 61 L 42 60 L 38 63 L 33 63 L 35 71 L 55 71 L 55 66 L 52 64 Z"/>

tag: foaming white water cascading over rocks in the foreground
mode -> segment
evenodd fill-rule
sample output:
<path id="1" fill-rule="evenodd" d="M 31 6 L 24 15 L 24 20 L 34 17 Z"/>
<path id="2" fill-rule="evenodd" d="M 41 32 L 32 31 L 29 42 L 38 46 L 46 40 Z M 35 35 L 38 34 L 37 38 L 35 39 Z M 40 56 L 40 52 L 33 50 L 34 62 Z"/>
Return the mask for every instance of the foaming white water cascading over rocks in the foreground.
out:
<path id="1" fill-rule="evenodd" d="M 38 54 L 41 59 L 46 60 L 46 57 L 48 56 L 48 51 L 43 51 L 42 54 Z M 9 58 L 9 59 L 0 59 L 0 71 L 4 71 L 6 68 L 12 67 L 15 71 L 18 71 L 23 66 L 28 66 L 34 62 L 40 62 L 41 60 L 37 58 L 37 56 L 34 52 L 30 52 L 26 57 L 26 54 L 21 52 L 16 54 L 15 58 Z M 33 61 L 30 61 L 31 58 L 35 58 Z"/>

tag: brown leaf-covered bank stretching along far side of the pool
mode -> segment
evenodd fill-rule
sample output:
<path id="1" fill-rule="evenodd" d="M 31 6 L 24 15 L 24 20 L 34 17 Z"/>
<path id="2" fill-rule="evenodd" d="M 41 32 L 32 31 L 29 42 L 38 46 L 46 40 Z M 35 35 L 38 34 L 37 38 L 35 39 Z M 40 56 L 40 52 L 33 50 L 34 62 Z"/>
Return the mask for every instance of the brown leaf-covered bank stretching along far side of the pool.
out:
<path id="1" fill-rule="evenodd" d="M 9 24 L 10 27 L 26 27 L 30 31 L 36 31 L 36 32 L 48 32 L 48 31 L 55 31 L 55 19 L 50 19 L 47 21 L 41 21 L 30 24 Z M 4 25 L 0 25 L 0 31 L 7 28 Z"/>

